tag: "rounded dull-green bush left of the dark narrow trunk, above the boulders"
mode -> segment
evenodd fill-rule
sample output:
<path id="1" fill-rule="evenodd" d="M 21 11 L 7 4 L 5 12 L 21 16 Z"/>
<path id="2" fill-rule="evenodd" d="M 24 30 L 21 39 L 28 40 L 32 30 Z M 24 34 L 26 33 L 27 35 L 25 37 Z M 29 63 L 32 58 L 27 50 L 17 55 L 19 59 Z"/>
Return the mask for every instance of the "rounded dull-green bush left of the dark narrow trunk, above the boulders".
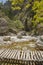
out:
<path id="1" fill-rule="evenodd" d="M 15 28 L 15 29 L 23 29 L 24 28 L 24 26 L 20 20 L 9 22 L 9 26 L 11 28 Z"/>

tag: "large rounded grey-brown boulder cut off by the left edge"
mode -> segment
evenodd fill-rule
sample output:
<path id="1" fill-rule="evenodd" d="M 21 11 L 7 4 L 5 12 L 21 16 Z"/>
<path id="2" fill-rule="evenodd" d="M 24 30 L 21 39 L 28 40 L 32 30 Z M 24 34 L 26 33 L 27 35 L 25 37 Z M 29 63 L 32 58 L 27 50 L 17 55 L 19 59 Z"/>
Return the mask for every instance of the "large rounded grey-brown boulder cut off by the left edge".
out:
<path id="1" fill-rule="evenodd" d="M 8 31 L 8 23 L 6 19 L 0 18 L 0 35 L 5 34 Z"/>

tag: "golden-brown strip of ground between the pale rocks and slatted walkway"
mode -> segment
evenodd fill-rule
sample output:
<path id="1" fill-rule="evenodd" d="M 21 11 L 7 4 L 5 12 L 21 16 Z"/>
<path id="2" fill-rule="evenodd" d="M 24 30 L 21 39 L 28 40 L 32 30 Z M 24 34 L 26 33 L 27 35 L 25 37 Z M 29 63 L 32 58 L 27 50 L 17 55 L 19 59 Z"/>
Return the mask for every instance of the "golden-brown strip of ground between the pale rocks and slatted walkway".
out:
<path id="1" fill-rule="evenodd" d="M 9 45 L 1 45 L 0 46 L 0 49 L 1 48 L 6 48 L 6 49 L 21 49 L 23 50 L 23 48 L 27 48 L 29 50 L 39 50 L 38 47 L 30 47 L 28 46 L 29 44 L 35 44 L 35 41 L 25 41 L 25 42 L 14 42 L 12 44 L 9 44 Z"/>

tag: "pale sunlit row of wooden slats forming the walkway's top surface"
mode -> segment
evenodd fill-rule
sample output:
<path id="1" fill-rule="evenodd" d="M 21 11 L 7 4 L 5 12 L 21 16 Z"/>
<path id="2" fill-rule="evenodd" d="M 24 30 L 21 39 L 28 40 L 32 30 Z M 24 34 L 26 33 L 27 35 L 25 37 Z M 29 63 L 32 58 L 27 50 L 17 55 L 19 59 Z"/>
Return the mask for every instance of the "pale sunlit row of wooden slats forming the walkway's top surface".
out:
<path id="1" fill-rule="evenodd" d="M 7 59 L 18 59 L 25 61 L 43 61 L 43 51 L 21 51 L 21 50 L 11 50 L 3 49 L 0 50 L 0 58 Z"/>

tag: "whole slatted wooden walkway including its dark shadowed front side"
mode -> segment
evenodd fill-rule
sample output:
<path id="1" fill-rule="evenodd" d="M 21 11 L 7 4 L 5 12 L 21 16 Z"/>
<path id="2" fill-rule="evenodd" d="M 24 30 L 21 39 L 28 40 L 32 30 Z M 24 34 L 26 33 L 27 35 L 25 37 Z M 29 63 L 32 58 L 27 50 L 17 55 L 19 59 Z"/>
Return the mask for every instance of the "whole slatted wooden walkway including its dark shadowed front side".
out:
<path id="1" fill-rule="evenodd" d="M 0 65 L 10 64 L 43 65 L 43 51 L 0 49 Z"/>

